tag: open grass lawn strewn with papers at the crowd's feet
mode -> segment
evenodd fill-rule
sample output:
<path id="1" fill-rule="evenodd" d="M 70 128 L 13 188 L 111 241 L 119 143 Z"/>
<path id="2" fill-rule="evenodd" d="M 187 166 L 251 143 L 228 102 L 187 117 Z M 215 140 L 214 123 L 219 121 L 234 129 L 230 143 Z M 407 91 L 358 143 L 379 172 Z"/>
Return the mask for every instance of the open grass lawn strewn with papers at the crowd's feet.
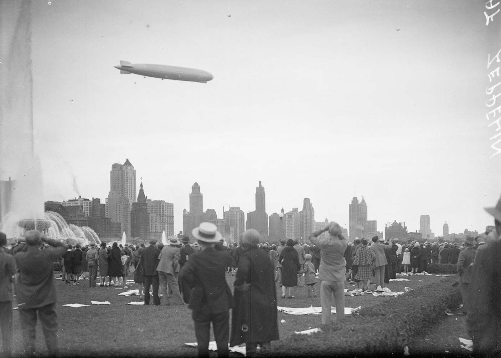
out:
<path id="1" fill-rule="evenodd" d="M 59 276 L 56 274 L 56 276 Z M 129 276 L 132 278 L 132 275 Z M 228 284 L 233 290 L 234 276 L 226 275 Z M 404 287 L 417 288 L 441 277 L 410 276 L 411 281 L 390 282 L 392 291 L 404 291 Z M 191 310 L 186 306 L 149 306 L 127 305 L 130 301 L 139 301 L 138 296 L 119 296 L 127 289 L 116 287 L 89 288 L 88 281 L 80 281 L 80 285 L 67 285 L 56 280 L 60 334 L 59 346 L 63 356 L 74 355 L 118 355 L 118 356 L 193 356 L 196 348 L 185 346 L 185 342 L 195 342 Z M 346 288 L 350 288 L 348 285 Z M 308 298 L 304 287 L 293 289 L 294 298 L 282 298 L 281 288 L 277 287 L 278 305 L 285 307 L 320 306 L 320 297 Z M 405 293 L 404 293 L 405 295 Z M 345 297 L 346 307 L 366 307 L 378 301 L 391 304 L 393 297 L 374 297 L 372 295 Z M 109 301 L 111 305 L 91 305 L 91 300 Z M 163 302 L 163 300 L 161 300 Z M 90 307 L 63 307 L 67 303 L 89 304 Z M 152 301 L 150 301 L 152 303 Z M 412 303 L 409 302 L 409 309 Z M 231 316 L 231 314 L 230 314 Z M 333 315 L 334 318 L 334 315 Z M 284 319 L 285 323 L 280 321 Z M 350 319 L 350 315 L 347 316 Z M 319 327 L 320 315 L 290 315 L 278 313 L 280 337 L 285 338 L 294 331 Z M 46 352 L 43 332 L 37 327 L 37 350 Z M 14 311 L 14 350 L 23 351 L 20 321 Z M 237 353 L 233 356 L 238 356 Z"/>

